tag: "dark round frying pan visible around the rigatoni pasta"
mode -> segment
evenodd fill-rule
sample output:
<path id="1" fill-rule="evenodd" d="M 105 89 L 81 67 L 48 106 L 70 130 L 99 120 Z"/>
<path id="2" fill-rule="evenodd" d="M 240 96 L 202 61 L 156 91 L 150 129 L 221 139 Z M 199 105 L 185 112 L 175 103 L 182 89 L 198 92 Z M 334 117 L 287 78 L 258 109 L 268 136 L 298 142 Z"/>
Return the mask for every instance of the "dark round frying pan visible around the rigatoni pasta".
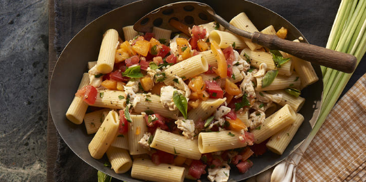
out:
<path id="1" fill-rule="evenodd" d="M 83 159 L 83 161 L 116 179 L 140 181 L 138 179 L 132 179 L 130 172 L 115 174 L 113 170 L 110 170 L 110 167 L 104 167 L 103 163 L 108 161 L 106 156 L 100 160 L 92 158 L 88 152 L 88 144 L 90 143 L 90 140 L 92 140 L 93 135 L 88 135 L 86 133 L 84 124 L 74 125 L 67 120 L 65 113 L 74 98 L 74 93 L 76 93 L 83 73 L 88 71 L 87 63 L 97 60 L 103 33 L 109 28 L 115 28 L 118 30 L 120 37 L 123 37 L 123 26 L 133 25 L 135 24 L 135 21 L 138 21 L 140 17 L 151 12 L 151 10 L 172 2 L 174 1 L 137 1 L 112 10 L 92 21 L 92 23 L 85 26 L 85 28 L 67 44 L 53 71 L 49 87 L 49 107 L 51 109 L 53 122 L 55 123 L 60 136 L 65 140 L 65 143 L 69 145 L 72 151 Z M 258 30 L 262 30 L 269 25 L 273 25 L 276 30 L 281 28 L 281 26 L 284 26 L 285 28 L 288 28 L 288 39 L 293 40 L 300 36 L 303 37 L 299 30 L 290 24 L 290 22 L 283 19 L 283 17 L 255 3 L 243 0 L 201 0 L 201 2 L 212 6 L 217 14 L 228 21 L 240 12 L 246 12 Z M 307 42 L 306 39 L 304 39 L 304 41 Z M 290 145 L 288 145 L 288 148 L 283 152 L 283 155 L 279 156 L 272 152 L 266 152 L 263 156 L 258 158 L 252 157 L 251 161 L 254 163 L 253 167 L 245 174 L 240 174 L 238 170 L 232 169 L 230 172 L 230 179 L 240 181 L 269 169 L 289 156 L 294 149 L 299 147 L 308 134 L 310 134 L 310 131 L 317 120 L 317 116 L 319 115 L 323 92 L 320 67 L 318 65 L 313 66 L 319 77 L 319 81 L 301 91 L 302 96 L 306 98 L 306 102 L 299 113 L 304 116 L 305 120 Z M 208 180 L 203 177 L 202 181 Z"/>

